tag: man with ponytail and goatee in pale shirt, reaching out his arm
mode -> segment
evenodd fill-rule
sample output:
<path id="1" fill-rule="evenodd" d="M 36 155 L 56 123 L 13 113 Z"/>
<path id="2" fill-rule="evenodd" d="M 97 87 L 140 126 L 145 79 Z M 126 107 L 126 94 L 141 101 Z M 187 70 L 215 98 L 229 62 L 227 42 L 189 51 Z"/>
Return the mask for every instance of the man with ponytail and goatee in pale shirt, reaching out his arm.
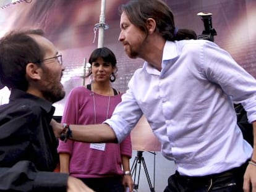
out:
<path id="1" fill-rule="evenodd" d="M 256 134 L 254 77 L 215 43 L 187 40 L 192 31 L 177 29 L 163 1 L 132 0 L 120 10 L 119 41 L 127 56 L 145 63 L 113 116 L 83 131 L 70 125 L 72 139 L 120 143 L 144 114 L 163 156 L 176 163 L 164 192 L 256 191 L 256 151 L 233 107 L 242 103 Z"/>

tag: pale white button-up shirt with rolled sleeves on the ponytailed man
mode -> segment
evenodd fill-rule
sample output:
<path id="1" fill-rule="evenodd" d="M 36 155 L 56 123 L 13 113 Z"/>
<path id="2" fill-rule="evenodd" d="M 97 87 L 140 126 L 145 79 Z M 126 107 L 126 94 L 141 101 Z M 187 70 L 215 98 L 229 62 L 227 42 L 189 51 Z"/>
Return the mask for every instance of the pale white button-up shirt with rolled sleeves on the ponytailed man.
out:
<path id="1" fill-rule="evenodd" d="M 239 167 L 252 156 L 236 124 L 233 102 L 256 120 L 256 81 L 228 52 L 205 40 L 167 41 L 162 70 L 136 70 L 111 119 L 121 142 L 144 114 L 161 152 L 181 175 Z"/>

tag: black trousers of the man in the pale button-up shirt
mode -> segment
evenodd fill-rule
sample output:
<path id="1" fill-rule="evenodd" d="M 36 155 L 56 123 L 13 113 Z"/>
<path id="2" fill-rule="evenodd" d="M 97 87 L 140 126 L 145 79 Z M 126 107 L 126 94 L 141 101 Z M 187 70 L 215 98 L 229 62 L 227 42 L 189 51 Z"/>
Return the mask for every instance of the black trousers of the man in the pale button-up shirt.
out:
<path id="1" fill-rule="evenodd" d="M 203 177 L 182 176 L 179 172 L 168 178 L 164 192 L 243 192 L 243 178 L 248 161 L 241 167 Z"/>

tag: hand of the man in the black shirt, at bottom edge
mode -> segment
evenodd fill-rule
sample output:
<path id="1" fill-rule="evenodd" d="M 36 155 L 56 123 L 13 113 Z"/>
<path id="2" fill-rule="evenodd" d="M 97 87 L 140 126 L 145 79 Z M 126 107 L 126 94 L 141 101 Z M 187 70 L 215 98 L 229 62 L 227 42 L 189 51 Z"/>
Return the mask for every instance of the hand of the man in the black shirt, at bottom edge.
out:
<path id="1" fill-rule="evenodd" d="M 88 188 L 80 179 L 69 177 L 67 178 L 67 192 L 95 192 Z"/>

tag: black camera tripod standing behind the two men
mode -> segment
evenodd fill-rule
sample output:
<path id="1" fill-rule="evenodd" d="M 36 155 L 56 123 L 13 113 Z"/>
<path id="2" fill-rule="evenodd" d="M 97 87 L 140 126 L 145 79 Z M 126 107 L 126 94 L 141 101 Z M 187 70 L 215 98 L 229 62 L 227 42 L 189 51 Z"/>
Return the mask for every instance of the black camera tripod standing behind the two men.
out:
<path id="1" fill-rule="evenodd" d="M 154 186 L 152 186 L 151 180 L 150 180 L 150 177 L 148 174 L 147 165 L 145 163 L 144 157 L 142 156 L 142 152 L 143 151 L 137 151 L 137 156 L 135 157 L 134 162 L 132 163 L 131 172 L 132 172 L 132 176 L 134 175 L 134 191 L 138 191 L 139 181 L 140 181 L 140 169 L 141 169 L 141 166 L 143 165 L 144 170 L 145 170 L 145 175 L 148 180 L 148 186 L 150 187 L 150 191 L 155 192 L 155 183 L 154 183 Z M 155 155 L 155 152 L 151 152 L 151 153 L 153 153 Z M 139 166 L 138 175 L 137 175 L 137 166 Z M 155 182 L 155 162 L 154 162 L 154 182 Z"/>

